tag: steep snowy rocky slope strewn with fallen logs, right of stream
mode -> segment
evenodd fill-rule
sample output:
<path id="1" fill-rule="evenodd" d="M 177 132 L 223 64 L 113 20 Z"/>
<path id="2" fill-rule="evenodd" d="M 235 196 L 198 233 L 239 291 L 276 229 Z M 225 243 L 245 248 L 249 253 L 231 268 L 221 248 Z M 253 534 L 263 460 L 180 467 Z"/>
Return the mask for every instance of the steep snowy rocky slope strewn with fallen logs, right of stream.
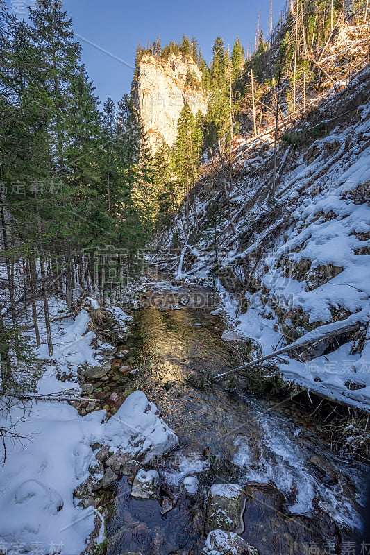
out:
<path id="1" fill-rule="evenodd" d="M 352 42 L 346 33 L 342 49 L 328 49 L 327 63 L 340 68 L 347 56 L 357 67 L 351 73 L 344 64 L 345 80 L 337 69 L 340 86 L 323 86 L 281 127 L 274 194 L 271 127 L 239 137 L 224 171 L 217 160 L 204 165 L 193 231 L 174 269 L 212 278 L 237 330 L 263 355 L 343 327 L 335 339 L 285 355 L 278 368 L 287 381 L 369 410 L 369 67 L 362 58 L 358 71 L 352 32 Z M 161 248 L 174 248 L 178 237 L 180 249 L 186 244 L 177 224 Z"/>

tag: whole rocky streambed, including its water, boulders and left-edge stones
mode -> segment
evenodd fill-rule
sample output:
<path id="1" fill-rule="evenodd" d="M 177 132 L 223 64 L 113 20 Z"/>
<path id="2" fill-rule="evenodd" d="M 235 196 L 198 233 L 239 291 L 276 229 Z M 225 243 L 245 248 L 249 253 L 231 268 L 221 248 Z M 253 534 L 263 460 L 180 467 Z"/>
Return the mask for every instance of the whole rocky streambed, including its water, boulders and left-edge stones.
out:
<path id="1" fill-rule="evenodd" d="M 144 391 L 179 444 L 150 461 L 93 446 L 99 464 L 76 497 L 106 518 L 108 555 L 340 553 L 359 540 L 366 473 L 330 451 L 308 413 L 213 381 L 237 338 L 212 290 L 146 282 L 139 293 L 127 338 L 85 372 L 92 400 L 78 408 L 114 418 Z"/>

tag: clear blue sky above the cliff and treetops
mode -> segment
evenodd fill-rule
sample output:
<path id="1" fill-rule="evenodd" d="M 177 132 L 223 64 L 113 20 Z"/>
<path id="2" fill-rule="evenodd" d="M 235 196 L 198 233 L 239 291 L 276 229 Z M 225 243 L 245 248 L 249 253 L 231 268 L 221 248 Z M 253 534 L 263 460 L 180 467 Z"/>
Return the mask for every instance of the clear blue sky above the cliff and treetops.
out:
<path id="1" fill-rule="evenodd" d="M 22 3 L 19 0 L 7 1 L 14 7 Z M 178 42 L 183 33 L 196 37 L 208 62 L 212 58 L 212 43 L 218 35 L 224 39 L 226 47 L 230 44 L 230 49 L 239 35 L 246 49 L 250 41 L 254 44 L 259 9 L 261 27 L 267 33 L 270 0 L 212 0 L 212 3 L 196 0 L 65 0 L 64 6 L 73 19 L 77 35 L 133 66 L 137 44 L 141 42 L 145 46 L 157 35 L 161 37 L 162 46 L 170 40 Z M 283 0 L 273 0 L 274 23 L 282 7 Z M 87 73 L 94 81 L 101 102 L 111 96 L 117 103 L 130 90 L 133 69 L 83 39 L 78 40 L 83 47 L 82 58 Z"/>

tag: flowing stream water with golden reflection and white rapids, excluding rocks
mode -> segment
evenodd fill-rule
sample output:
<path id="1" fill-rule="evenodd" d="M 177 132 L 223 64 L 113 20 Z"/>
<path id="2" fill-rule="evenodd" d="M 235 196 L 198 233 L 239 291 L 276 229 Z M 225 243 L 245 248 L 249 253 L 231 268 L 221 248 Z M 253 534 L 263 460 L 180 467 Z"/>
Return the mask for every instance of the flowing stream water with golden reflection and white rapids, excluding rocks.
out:
<path id="1" fill-rule="evenodd" d="M 171 308 L 181 298 L 187 306 Z M 260 555 L 339 553 L 359 541 L 364 469 L 330 451 L 328 438 L 289 401 L 214 381 L 233 361 L 221 341 L 224 324 L 210 314 L 212 292 L 157 289 L 146 301 L 125 344 L 125 364 L 139 369 L 126 393 L 144 391 L 178 435 L 176 450 L 152 465 L 174 509 L 162 516 L 158 501 L 133 499 L 122 478 L 107 519 L 108 555 L 199 554 L 207 492 L 223 482 L 245 486 L 241 535 Z M 195 496 L 180 488 L 188 475 L 199 479 Z"/>

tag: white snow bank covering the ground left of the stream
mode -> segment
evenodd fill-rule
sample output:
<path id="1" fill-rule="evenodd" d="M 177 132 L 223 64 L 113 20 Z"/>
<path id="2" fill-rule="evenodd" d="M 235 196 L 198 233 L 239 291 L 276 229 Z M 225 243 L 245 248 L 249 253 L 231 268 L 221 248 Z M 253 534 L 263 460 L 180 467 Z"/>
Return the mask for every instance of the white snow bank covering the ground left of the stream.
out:
<path id="1" fill-rule="evenodd" d="M 75 369 L 73 374 L 84 362 L 99 365 L 90 345 L 94 334 L 86 333 L 88 321 L 87 312 L 82 310 L 74 321 L 53 324 L 54 355 L 47 355 L 46 345 L 39 354 L 58 364 L 51 361 L 45 366 L 39 393 L 72 389 L 78 393 L 76 381 L 60 382 L 56 374 Z M 1 400 L 0 427 L 17 422 L 15 432 L 24 439 L 6 438 L 6 461 L 1 468 L 0 543 L 8 549 L 12 543 L 22 543 L 24 552 L 34 550 L 37 543 L 40 554 L 78 555 L 96 524 L 98 543 L 103 540 L 99 513 L 91 506 L 81 509 L 73 497 L 75 488 L 89 477 L 89 467 L 96 465 L 90 445 L 110 445 L 112 451 L 140 456 L 146 462 L 163 454 L 178 443 L 178 438 L 155 412 L 155 405 L 142 391 L 132 393 L 108 422 L 106 411 L 94 411 L 82 418 L 67 402 L 17 402 L 9 412 L 5 400 Z"/>

